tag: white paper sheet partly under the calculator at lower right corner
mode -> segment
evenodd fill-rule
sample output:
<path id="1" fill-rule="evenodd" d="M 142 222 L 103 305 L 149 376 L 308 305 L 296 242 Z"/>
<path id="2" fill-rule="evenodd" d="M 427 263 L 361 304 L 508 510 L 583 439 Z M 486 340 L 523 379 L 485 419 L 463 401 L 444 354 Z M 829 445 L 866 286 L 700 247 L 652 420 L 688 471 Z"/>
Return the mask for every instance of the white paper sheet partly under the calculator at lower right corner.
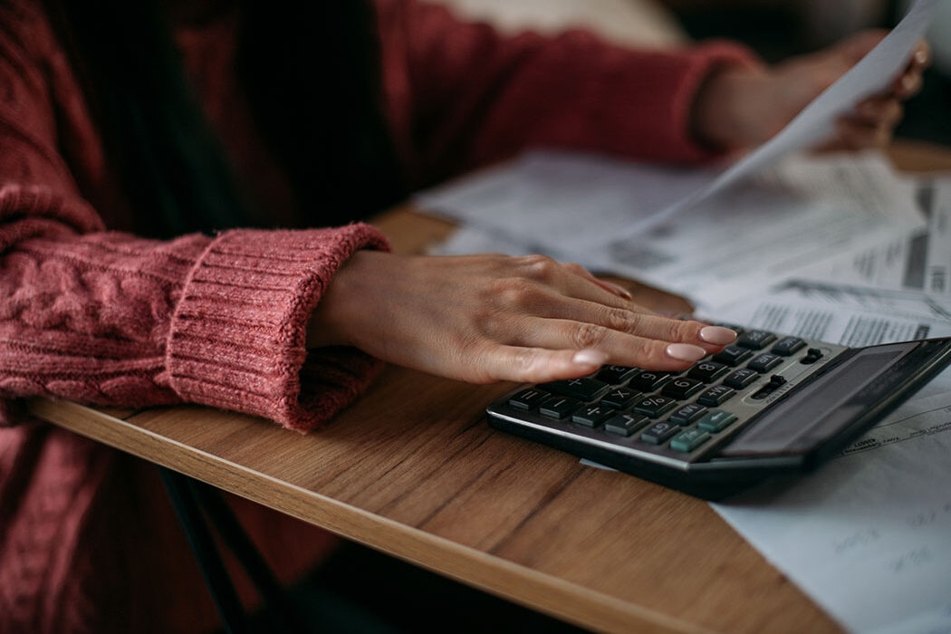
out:
<path id="1" fill-rule="evenodd" d="M 949 483 L 945 393 L 905 403 L 815 473 L 712 507 L 849 630 L 935 634 L 951 631 Z"/>

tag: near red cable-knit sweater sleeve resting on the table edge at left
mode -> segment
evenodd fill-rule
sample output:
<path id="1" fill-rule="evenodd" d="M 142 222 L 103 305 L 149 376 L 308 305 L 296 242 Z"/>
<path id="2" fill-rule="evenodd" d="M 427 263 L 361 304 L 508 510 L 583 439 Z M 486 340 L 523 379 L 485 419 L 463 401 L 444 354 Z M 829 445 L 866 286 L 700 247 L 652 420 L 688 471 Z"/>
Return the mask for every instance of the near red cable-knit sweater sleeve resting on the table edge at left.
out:
<path id="1" fill-rule="evenodd" d="M 42 19 L 20 10 L 0 8 L 0 423 L 33 395 L 193 402 L 301 431 L 338 411 L 379 364 L 353 349 L 308 355 L 305 325 L 340 264 L 386 240 L 365 224 L 108 232 L 63 158 L 91 125 L 73 129 L 79 95 Z"/>

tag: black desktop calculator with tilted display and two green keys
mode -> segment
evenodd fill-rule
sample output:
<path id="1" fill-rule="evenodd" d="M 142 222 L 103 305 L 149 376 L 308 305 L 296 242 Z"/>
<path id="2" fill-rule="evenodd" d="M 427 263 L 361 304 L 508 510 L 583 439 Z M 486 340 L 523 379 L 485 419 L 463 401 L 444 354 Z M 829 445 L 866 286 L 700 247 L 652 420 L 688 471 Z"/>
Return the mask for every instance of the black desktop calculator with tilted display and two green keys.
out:
<path id="1" fill-rule="evenodd" d="M 951 337 L 848 348 L 728 327 L 737 339 L 684 372 L 607 365 L 522 386 L 489 424 L 719 499 L 814 468 L 951 363 Z"/>

